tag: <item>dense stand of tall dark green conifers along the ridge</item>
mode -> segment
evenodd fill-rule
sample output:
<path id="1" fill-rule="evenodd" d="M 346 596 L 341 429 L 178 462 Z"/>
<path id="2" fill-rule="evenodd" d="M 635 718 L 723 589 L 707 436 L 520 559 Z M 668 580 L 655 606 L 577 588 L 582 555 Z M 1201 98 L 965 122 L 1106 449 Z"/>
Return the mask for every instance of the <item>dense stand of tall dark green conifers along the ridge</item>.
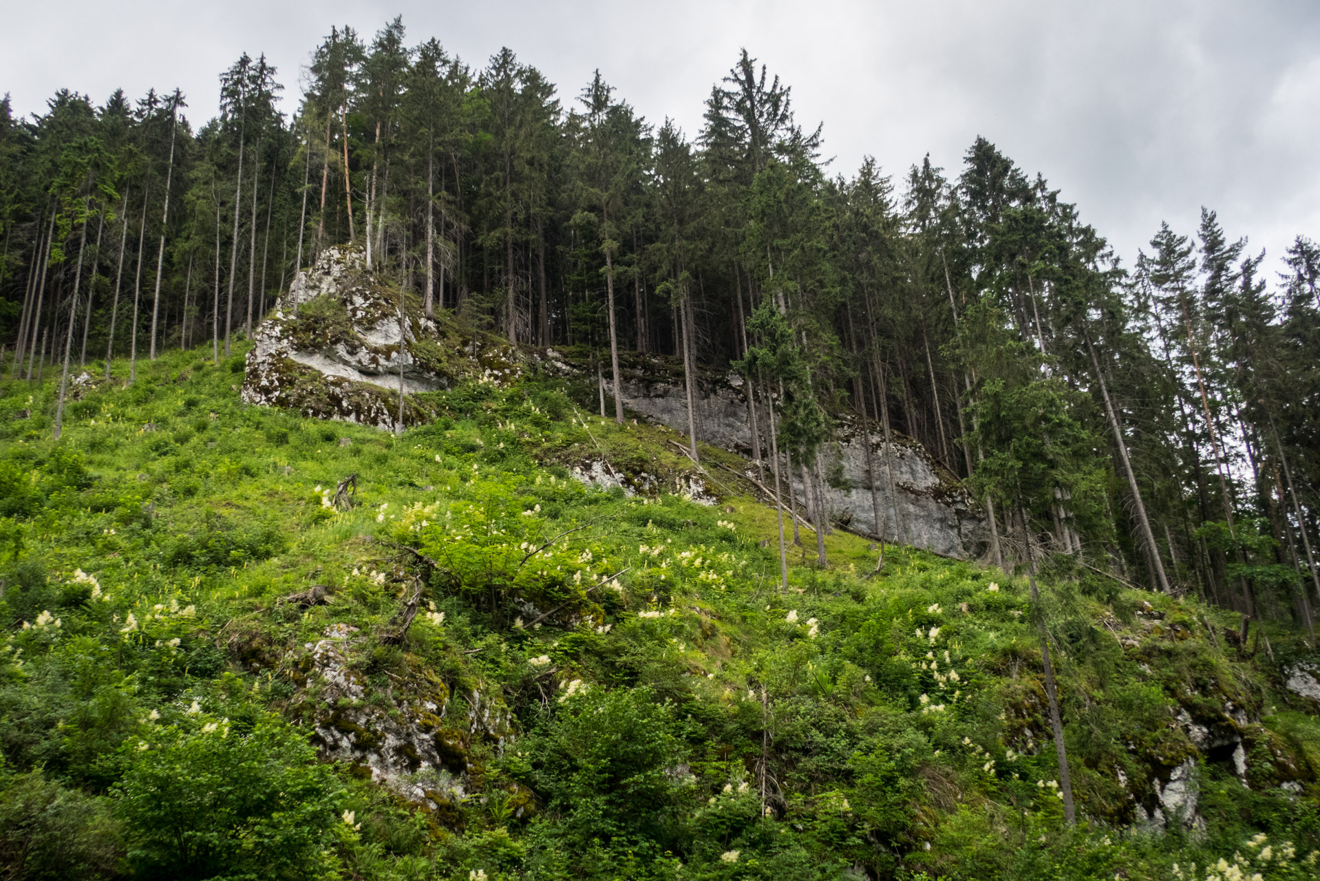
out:
<path id="1" fill-rule="evenodd" d="M 409 48 L 399 20 L 370 40 L 333 29 L 306 73 L 286 118 L 281 73 L 244 54 L 197 129 L 178 91 L 100 107 L 61 91 L 32 120 L 0 104 L 7 376 L 128 357 L 132 382 L 164 347 L 219 358 L 297 267 L 352 242 L 429 313 L 585 346 L 615 388 L 630 350 L 681 359 L 689 395 L 733 365 L 754 456 L 825 530 L 820 453 L 851 413 L 968 481 L 991 560 L 1052 551 L 1311 626 L 1308 239 L 1276 272 L 1204 211 L 1126 269 L 981 139 L 957 177 L 929 159 L 899 188 L 871 160 L 832 177 L 821 129 L 746 53 L 694 136 L 599 74 L 565 102 L 508 50 L 474 70 L 434 40 Z M 873 486 L 892 483 L 882 449 Z"/>

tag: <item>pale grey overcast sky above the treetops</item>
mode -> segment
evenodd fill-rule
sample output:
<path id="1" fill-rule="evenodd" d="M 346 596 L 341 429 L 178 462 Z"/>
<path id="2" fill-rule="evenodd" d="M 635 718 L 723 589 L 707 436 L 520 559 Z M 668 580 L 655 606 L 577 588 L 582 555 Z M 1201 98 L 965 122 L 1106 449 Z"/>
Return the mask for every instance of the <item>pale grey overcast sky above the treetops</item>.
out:
<path id="1" fill-rule="evenodd" d="M 689 135 L 746 46 L 792 86 L 799 122 L 825 124 L 832 172 L 865 155 L 900 177 L 927 152 L 950 174 L 977 135 L 1076 202 L 1131 264 L 1162 219 L 1200 206 L 1276 259 L 1320 238 L 1320 4 L 1304 0 L 227 0 L 8 4 L 0 91 L 16 112 L 55 88 L 100 103 L 115 87 L 182 88 L 194 125 L 240 52 L 280 69 L 285 110 L 331 24 L 370 34 L 403 15 L 479 67 L 500 46 L 565 100 L 599 67 L 649 120 Z M 1271 260 L 1271 264 L 1274 260 Z"/>

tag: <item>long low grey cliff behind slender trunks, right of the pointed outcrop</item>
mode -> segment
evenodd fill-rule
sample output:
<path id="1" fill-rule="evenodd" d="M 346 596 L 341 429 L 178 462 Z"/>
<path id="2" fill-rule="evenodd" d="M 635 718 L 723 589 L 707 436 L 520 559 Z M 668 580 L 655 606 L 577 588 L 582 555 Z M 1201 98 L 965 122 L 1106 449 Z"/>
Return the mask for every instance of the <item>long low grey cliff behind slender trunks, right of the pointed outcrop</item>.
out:
<path id="1" fill-rule="evenodd" d="M 643 365 L 628 372 L 623 403 L 628 409 L 686 433 L 688 400 L 682 378 L 667 375 L 660 359 L 651 361 L 653 370 Z M 750 456 L 751 416 L 744 384 L 742 376 L 733 372 L 717 380 L 704 378 L 696 421 L 700 440 Z M 764 419 L 764 412 L 758 411 L 758 417 Z M 759 427 L 762 437 L 767 428 Z M 830 485 L 824 495 L 832 519 L 879 535 L 875 505 L 871 502 L 874 478 L 887 539 L 953 557 L 979 557 L 985 553 L 989 547 L 985 515 L 925 448 L 896 432 L 891 433 L 892 442 L 886 448 L 875 427 L 866 437 L 859 421 L 845 420 L 840 429 L 838 442 L 825 449 L 825 472 Z M 867 442 L 871 445 L 870 472 L 866 468 Z M 890 470 L 895 489 L 892 497 Z M 800 479 L 793 481 L 793 489 L 800 501 Z"/>

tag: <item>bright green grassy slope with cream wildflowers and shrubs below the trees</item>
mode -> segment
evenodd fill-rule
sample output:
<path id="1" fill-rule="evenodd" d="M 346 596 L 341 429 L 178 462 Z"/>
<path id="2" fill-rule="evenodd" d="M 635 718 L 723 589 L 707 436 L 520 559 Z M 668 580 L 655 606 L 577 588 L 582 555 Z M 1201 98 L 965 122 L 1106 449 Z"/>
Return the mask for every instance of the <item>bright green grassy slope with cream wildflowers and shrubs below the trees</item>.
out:
<path id="1" fill-rule="evenodd" d="M 0 386 L 7 877 L 1316 873 L 1298 633 L 1052 563 L 1067 828 L 1024 577 L 842 532 L 820 571 L 805 534 L 781 593 L 774 509 L 714 462 L 694 503 L 678 436 L 583 390 L 466 384 L 392 437 L 242 370 L 116 365 L 58 444 L 49 371 Z M 1204 823 L 1133 831 L 1189 757 Z"/>

